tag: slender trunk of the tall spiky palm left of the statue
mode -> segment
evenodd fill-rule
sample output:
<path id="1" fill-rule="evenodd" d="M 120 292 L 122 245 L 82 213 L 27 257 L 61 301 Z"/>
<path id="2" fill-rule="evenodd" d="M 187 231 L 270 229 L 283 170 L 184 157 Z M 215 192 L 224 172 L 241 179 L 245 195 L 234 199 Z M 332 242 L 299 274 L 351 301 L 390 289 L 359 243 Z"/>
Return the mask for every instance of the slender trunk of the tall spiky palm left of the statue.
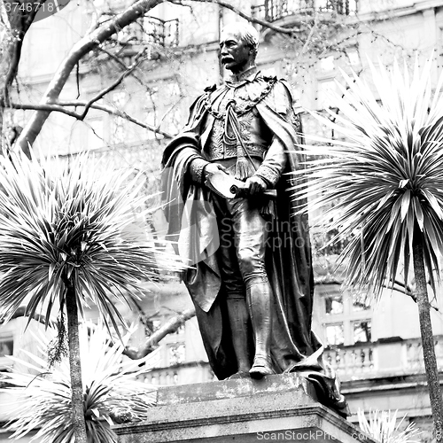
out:
<path id="1" fill-rule="evenodd" d="M 67 337 L 71 374 L 72 408 L 75 443 L 87 443 L 84 421 L 82 361 L 80 359 L 79 317 L 74 283 L 66 285 Z"/>

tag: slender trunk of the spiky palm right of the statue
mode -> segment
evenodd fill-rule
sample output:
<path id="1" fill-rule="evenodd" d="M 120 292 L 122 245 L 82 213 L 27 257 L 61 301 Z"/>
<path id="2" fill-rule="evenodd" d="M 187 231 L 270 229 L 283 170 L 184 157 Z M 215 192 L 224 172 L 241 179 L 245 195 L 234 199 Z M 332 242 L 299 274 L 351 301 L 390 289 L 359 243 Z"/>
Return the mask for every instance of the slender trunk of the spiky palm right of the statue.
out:
<path id="1" fill-rule="evenodd" d="M 416 276 L 416 297 L 420 318 L 420 333 L 422 335 L 424 369 L 431 400 L 433 420 L 432 437 L 443 441 L 443 400 L 439 385 L 439 369 L 435 356 L 434 338 L 431 325 L 431 304 L 426 289 L 426 273 L 424 268 L 423 237 L 416 227 L 413 241 L 414 274 Z"/>

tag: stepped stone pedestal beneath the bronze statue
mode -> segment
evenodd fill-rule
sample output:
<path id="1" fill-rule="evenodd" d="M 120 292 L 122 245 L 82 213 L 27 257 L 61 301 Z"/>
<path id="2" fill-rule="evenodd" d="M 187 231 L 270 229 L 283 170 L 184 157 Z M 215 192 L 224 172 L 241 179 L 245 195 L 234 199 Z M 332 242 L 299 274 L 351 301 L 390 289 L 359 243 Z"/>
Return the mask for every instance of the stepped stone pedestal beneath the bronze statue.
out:
<path id="1" fill-rule="evenodd" d="M 373 443 L 297 374 L 159 388 L 149 421 L 113 430 L 120 443 Z"/>

